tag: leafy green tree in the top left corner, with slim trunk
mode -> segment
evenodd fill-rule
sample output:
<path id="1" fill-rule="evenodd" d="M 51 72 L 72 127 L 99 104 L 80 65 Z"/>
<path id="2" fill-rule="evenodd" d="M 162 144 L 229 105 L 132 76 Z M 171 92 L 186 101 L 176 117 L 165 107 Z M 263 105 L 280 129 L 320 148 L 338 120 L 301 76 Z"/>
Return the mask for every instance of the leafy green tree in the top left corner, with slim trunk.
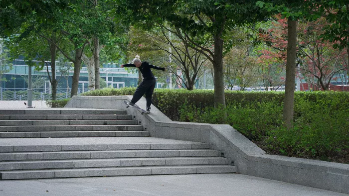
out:
<path id="1" fill-rule="evenodd" d="M 48 43 L 48 51 L 50 57 L 48 58 L 46 49 L 41 43 L 37 32 L 46 34 L 51 37 L 55 44 L 59 44 L 61 39 L 59 33 L 56 33 L 51 25 L 53 24 L 53 15 L 57 9 L 66 7 L 64 0 L 45 0 L 45 1 L 27 1 L 27 0 L 2 0 L 0 3 L 0 36 L 10 37 L 7 43 L 18 44 L 15 47 L 21 47 L 19 51 L 24 52 L 23 55 L 28 63 L 33 60 L 39 60 L 39 64 L 30 64 L 29 66 L 36 66 L 37 69 L 42 69 L 43 64 L 46 64 L 48 77 L 52 86 L 52 100 L 56 99 L 57 81 L 55 79 L 55 57 L 56 47 Z M 48 34 L 47 34 L 48 33 Z M 12 42 L 12 43 L 11 43 Z M 26 43 L 24 43 L 26 42 Z M 41 47 L 41 48 L 40 48 Z M 13 51 L 12 51 L 13 52 Z M 52 70 L 52 78 L 48 72 L 47 59 L 50 59 L 50 66 Z"/>

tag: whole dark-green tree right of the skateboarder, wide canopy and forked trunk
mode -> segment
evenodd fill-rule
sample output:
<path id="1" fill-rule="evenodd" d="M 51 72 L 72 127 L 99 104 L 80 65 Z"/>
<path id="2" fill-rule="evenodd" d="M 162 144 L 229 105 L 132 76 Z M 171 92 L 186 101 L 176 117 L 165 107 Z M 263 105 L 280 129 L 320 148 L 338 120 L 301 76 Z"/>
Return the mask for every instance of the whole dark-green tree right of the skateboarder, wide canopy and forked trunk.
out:
<path id="1" fill-rule="evenodd" d="M 202 54 L 212 63 L 214 69 L 214 106 L 225 107 L 223 51 L 224 48 L 231 47 L 229 42 L 232 39 L 228 31 L 236 25 L 263 18 L 262 14 L 256 12 L 258 7 L 255 6 L 255 1 L 118 0 L 117 2 L 126 10 L 132 10 L 134 19 L 144 22 L 144 26 L 166 19 L 171 26 L 182 31 L 192 49 L 203 51 Z M 205 49 L 202 43 L 190 39 L 189 35 L 210 35 L 206 39 L 214 44 L 213 50 Z"/>

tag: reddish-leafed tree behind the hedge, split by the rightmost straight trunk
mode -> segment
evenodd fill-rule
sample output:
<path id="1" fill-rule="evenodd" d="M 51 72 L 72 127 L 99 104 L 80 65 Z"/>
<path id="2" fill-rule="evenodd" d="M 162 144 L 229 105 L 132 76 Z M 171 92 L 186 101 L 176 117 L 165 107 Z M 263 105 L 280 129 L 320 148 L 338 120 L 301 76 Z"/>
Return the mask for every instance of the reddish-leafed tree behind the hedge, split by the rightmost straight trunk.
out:
<path id="1" fill-rule="evenodd" d="M 287 49 L 287 19 L 281 15 L 275 15 L 275 21 L 271 22 L 271 28 L 260 30 L 259 38 L 271 49 L 260 50 L 260 62 L 264 64 L 265 80 L 270 80 L 277 70 L 273 64 L 278 65 L 281 71 L 286 65 Z M 316 21 L 300 21 L 297 27 L 297 65 L 300 65 L 300 73 L 311 86 L 319 90 L 329 90 L 331 80 L 343 70 L 348 69 L 347 51 L 340 51 L 332 47 L 333 43 L 322 39 L 327 25 L 324 17 Z M 271 64 L 272 63 L 272 64 Z M 269 66 L 269 67 L 268 67 Z M 263 66 L 262 66 L 263 67 Z M 280 82 L 282 76 L 280 76 Z M 276 84 L 274 82 L 274 84 Z M 277 86 L 277 85 L 274 85 Z"/>

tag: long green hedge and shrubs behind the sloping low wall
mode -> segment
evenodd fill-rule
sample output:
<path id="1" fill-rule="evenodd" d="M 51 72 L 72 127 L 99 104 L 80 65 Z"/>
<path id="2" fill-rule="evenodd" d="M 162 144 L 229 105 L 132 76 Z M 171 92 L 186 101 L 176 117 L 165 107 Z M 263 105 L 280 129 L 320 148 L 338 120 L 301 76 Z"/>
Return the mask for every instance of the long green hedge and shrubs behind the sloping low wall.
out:
<path id="1" fill-rule="evenodd" d="M 103 89 L 84 95 L 134 92 Z M 172 120 L 230 124 L 271 154 L 349 163 L 348 92 L 296 92 L 292 130 L 283 126 L 283 92 L 226 91 L 225 96 L 225 110 L 213 107 L 211 90 L 156 89 L 153 101 Z"/>

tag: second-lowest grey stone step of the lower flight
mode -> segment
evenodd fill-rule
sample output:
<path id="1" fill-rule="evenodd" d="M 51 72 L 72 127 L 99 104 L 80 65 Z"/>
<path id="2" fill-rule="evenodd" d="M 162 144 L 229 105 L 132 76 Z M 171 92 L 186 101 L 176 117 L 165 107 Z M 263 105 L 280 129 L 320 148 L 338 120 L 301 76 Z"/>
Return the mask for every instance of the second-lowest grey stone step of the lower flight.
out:
<path id="1" fill-rule="evenodd" d="M 223 157 L 160 157 L 0 162 L 0 170 L 228 164 Z"/>

